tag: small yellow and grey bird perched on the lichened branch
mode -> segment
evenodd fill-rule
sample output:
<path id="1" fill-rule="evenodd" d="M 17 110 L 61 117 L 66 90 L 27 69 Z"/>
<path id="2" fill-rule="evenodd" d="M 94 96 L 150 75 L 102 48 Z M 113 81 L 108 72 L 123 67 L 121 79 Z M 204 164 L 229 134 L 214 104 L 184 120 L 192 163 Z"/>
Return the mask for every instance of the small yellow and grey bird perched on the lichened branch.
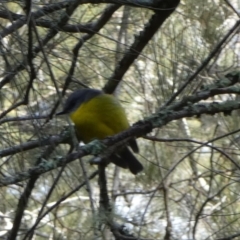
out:
<path id="1" fill-rule="evenodd" d="M 113 136 L 130 126 L 118 99 L 98 89 L 75 90 L 67 98 L 63 110 L 56 115 L 63 114 L 69 115 L 75 125 L 78 140 L 85 144 Z M 131 139 L 129 146 L 135 153 L 139 152 L 136 139 Z M 128 146 L 120 148 L 110 158 L 110 162 L 129 169 L 134 175 L 143 170 L 143 165 Z"/>

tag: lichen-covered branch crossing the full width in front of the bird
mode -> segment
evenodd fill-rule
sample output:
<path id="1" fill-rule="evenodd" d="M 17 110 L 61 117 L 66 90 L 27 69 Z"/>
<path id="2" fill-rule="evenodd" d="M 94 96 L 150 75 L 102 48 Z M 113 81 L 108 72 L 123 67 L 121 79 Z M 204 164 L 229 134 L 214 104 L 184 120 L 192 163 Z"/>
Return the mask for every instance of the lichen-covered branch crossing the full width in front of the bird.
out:
<path id="1" fill-rule="evenodd" d="M 229 113 L 236 109 L 240 109 L 240 102 L 238 101 L 226 101 L 223 103 L 195 105 L 191 104 L 179 111 L 165 109 L 153 114 L 146 120 L 140 121 L 139 123 L 132 126 L 130 129 L 114 135 L 113 137 L 109 137 L 103 141 L 92 141 L 91 143 L 81 147 L 77 152 L 73 152 L 66 157 L 61 157 L 52 161 L 43 161 L 40 165 L 30 168 L 26 172 L 17 173 L 15 174 L 15 176 L 12 177 L 2 178 L 0 179 L 0 186 L 14 184 L 26 180 L 31 176 L 49 172 L 57 167 L 70 163 L 79 157 L 83 157 L 89 154 L 98 155 L 104 152 L 106 146 L 113 147 L 114 144 L 119 143 L 120 141 L 126 141 L 126 139 L 134 136 L 145 135 L 147 133 L 150 133 L 154 128 L 163 127 L 173 120 L 181 119 L 184 117 L 200 116 L 201 114 L 213 115 L 220 112 Z"/>

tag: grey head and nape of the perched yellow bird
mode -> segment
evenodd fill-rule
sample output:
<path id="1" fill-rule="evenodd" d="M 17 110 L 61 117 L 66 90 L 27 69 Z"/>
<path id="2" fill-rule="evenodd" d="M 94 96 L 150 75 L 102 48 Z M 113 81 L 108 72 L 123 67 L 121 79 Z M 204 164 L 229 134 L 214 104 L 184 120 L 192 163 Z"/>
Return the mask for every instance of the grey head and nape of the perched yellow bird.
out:
<path id="1" fill-rule="evenodd" d="M 101 94 L 103 94 L 102 91 L 91 88 L 76 90 L 68 97 L 62 112 L 59 112 L 56 115 L 71 113 L 79 108 L 82 103 L 85 103 Z"/>

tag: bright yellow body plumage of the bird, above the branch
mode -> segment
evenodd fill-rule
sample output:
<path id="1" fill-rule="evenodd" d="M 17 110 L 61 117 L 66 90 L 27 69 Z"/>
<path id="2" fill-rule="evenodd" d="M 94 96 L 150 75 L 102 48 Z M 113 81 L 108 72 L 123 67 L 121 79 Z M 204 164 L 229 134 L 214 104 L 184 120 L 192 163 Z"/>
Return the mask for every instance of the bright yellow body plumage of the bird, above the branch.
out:
<path id="1" fill-rule="evenodd" d="M 94 97 L 70 114 L 78 137 L 85 143 L 103 139 L 129 127 L 124 109 L 108 94 Z"/>

